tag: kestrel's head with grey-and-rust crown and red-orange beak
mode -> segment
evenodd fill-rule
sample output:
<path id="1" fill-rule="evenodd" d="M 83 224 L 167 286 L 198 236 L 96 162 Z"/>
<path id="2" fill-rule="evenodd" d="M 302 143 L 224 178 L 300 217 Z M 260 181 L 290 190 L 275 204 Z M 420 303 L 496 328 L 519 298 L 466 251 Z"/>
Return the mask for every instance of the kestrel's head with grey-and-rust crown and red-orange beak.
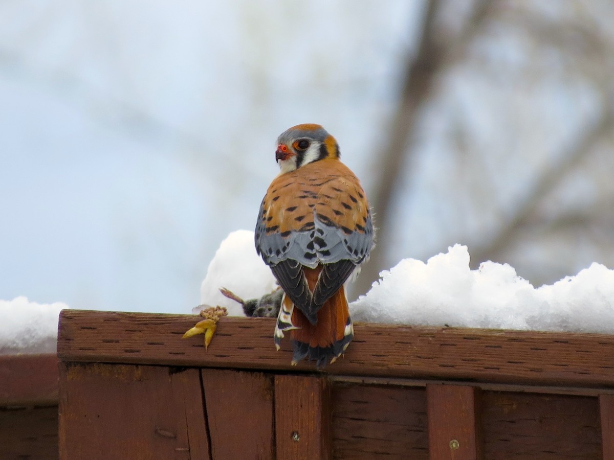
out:
<path id="1" fill-rule="evenodd" d="M 312 123 L 292 126 L 279 135 L 277 144 L 275 161 L 282 173 L 321 159 L 338 159 L 340 155 L 335 138 Z"/>

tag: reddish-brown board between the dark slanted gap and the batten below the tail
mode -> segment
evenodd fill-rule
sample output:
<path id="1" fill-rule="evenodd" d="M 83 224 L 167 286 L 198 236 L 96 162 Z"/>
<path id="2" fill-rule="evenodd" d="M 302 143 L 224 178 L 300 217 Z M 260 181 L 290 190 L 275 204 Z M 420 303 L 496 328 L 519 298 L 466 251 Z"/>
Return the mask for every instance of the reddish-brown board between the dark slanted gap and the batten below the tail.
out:
<path id="1" fill-rule="evenodd" d="M 273 377 L 202 369 L 213 459 L 274 458 Z"/>

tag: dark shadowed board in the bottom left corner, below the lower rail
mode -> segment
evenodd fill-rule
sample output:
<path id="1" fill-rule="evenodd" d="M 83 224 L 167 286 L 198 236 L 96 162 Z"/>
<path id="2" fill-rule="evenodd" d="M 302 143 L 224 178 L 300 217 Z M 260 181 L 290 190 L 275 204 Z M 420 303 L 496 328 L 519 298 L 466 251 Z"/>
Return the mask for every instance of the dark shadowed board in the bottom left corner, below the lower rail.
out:
<path id="1" fill-rule="evenodd" d="M 0 408 L 0 458 L 58 458 L 58 407 Z"/>

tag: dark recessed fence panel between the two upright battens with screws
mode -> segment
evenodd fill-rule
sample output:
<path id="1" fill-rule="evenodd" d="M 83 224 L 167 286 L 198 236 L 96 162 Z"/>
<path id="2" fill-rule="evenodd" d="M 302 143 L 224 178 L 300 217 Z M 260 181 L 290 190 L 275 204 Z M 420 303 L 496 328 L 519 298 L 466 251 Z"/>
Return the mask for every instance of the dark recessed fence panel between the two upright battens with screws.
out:
<path id="1" fill-rule="evenodd" d="M 335 383 L 333 453 L 338 460 L 426 460 L 424 388 Z"/>

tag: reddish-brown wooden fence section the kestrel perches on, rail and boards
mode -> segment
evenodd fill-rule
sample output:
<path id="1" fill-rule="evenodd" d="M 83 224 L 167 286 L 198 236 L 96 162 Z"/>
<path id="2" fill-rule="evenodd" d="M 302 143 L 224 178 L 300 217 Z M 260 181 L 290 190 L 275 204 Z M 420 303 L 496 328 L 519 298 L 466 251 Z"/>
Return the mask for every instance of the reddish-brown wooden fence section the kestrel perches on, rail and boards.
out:
<path id="1" fill-rule="evenodd" d="M 358 323 L 317 370 L 195 320 L 61 313 L 60 458 L 614 460 L 614 336 Z"/>

